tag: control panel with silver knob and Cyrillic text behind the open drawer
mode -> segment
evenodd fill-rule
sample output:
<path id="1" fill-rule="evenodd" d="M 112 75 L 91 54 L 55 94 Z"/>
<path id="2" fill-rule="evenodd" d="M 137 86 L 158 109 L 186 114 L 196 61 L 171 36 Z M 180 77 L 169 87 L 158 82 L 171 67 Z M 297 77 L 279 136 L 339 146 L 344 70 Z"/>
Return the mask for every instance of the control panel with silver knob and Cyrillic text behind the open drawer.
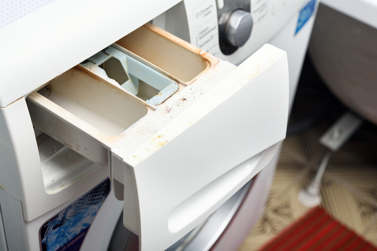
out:
<path id="1" fill-rule="evenodd" d="M 315 3 L 315 0 L 184 0 L 152 23 L 238 65 L 268 43 L 297 12 L 303 10 L 310 18 Z M 291 35 L 294 36 L 294 31 Z"/>

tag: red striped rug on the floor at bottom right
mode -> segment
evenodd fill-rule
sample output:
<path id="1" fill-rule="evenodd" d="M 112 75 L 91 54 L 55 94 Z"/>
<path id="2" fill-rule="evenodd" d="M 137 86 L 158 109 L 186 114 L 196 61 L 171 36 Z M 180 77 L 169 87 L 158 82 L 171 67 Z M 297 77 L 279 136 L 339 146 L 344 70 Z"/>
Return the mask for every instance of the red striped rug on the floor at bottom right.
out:
<path id="1" fill-rule="evenodd" d="M 377 251 L 354 232 L 313 208 L 259 251 Z"/>

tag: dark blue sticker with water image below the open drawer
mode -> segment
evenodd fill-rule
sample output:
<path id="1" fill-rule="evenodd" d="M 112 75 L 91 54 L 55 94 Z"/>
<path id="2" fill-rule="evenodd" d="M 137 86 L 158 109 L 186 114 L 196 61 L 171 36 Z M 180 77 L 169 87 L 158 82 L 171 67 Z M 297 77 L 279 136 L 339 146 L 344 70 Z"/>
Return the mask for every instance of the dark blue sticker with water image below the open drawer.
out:
<path id="1" fill-rule="evenodd" d="M 110 192 L 107 178 L 57 215 L 39 230 L 41 251 L 78 251 L 98 210 Z"/>

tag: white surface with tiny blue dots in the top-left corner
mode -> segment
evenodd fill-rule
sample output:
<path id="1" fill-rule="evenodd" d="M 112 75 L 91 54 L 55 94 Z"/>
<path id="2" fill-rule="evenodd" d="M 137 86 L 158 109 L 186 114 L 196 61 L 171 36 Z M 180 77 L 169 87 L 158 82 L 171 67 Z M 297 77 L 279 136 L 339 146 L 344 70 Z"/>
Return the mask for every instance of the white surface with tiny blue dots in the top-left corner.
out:
<path id="1" fill-rule="evenodd" d="M 0 0 L 0 29 L 57 0 Z"/>

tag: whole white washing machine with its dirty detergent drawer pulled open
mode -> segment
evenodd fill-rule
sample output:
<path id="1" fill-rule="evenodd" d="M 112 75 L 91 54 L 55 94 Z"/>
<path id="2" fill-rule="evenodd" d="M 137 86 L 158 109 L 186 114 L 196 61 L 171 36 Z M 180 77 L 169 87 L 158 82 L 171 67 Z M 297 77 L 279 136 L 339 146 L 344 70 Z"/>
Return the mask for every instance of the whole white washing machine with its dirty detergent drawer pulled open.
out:
<path id="1" fill-rule="evenodd" d="M 268 195 L 316 6 L 6 3 L 0 248 L 236 250 Z"/>

